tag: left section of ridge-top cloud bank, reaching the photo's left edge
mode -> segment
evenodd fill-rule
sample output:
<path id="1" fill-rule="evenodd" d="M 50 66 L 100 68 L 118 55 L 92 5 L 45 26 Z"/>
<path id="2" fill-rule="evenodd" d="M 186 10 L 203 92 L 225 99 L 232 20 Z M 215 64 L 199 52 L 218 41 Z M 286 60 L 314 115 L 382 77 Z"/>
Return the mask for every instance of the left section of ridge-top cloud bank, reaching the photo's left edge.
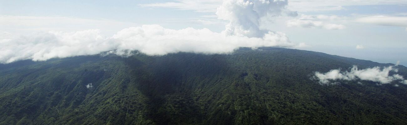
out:
<path id="1" fill-rule="evenodd" d="M 0 63 L 98 54 L 114 49 L 99 30 L 40 32 L 0 41 Z"/>

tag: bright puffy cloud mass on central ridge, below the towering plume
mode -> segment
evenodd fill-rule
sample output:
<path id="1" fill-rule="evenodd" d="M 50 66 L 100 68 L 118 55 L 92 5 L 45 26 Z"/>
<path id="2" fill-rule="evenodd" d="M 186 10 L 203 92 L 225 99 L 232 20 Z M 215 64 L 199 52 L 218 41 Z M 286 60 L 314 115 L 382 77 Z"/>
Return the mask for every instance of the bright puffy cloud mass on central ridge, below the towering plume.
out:
<path id="1" fill-rule="evenodd" d="M 268 32 L 262 38 L 225 35 L 209 29 L 165 29 L 157 25 L 127 28 L 116 35 L 122 45 L 119 50 L 139 50 L 149 55 L 175 52 L 229 53 L 238 47 L 292 46 L 281 32 Z M 138 42 L 134 42 L 138 41 Z"/>

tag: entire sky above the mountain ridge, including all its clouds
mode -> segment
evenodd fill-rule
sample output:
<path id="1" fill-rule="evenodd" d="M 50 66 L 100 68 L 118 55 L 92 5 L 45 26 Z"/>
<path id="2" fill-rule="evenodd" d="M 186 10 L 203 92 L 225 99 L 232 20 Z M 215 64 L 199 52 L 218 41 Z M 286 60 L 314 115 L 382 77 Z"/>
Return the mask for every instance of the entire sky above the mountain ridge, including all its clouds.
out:
<path id="1" fill-rule="evenodd" d="M 0 63 L 239 47 L 407 65 L 407 0 L 0 0 Z"/>

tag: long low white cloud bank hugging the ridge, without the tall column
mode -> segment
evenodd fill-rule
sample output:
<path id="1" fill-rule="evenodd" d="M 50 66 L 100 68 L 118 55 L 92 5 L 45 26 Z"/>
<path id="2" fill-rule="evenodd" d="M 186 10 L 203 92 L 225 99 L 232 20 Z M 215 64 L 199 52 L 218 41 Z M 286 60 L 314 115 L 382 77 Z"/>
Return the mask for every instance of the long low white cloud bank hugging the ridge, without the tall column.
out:
<path id="1" fill-rule="evenodd" d="M 126 28 L 109 38 L 103 37 L 100 30 L 50 31 L 14 36 L 1 40 L 0 44 L 0 63 L 94 55 L 110 50 L 116 50 L 118 55 L 125 55 L 127 50 L 138 50 L 148 55 L 176 52 L 224 54 L 239 47 L 295 46 L 281 32 L 249 38 L 212 32 L 206 28 L 172 30 L 158 25 Z"/>

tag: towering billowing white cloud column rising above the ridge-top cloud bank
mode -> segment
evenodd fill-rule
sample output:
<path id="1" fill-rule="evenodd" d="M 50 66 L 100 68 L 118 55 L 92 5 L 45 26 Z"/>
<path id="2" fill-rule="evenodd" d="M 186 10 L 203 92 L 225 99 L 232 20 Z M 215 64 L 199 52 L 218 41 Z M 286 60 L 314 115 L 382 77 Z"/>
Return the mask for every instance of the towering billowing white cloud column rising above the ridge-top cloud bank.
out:
<path id="1" fill-rule="evenodd" d="M 269 31 L 260 29 L 261 18 L 298 15 L 287 10 L 287 5 L 287 0 L 224 0 L 216 15 L 230 22 L 225 26 L 224 34 L 263 37 Z"/>

